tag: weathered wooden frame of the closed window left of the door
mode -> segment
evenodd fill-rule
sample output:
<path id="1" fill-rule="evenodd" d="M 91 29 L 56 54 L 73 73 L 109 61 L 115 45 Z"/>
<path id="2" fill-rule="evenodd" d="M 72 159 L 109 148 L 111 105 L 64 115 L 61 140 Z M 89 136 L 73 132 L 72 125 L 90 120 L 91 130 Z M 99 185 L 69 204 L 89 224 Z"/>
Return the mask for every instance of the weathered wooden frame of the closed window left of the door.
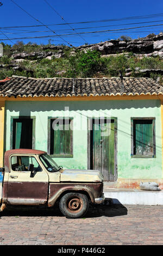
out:
<path id="1" fill-rule="evenodd" d="M 56 154 L 51 154 L 51 120 L 55 119 L 64 119 L 65 117 L 48 117 L 48 143 L 47 143 L 47 153 L 51 157 L 55 158 L 73 158 L 73 129 L 72 129 L 72 138 L 71 138 L 71 154 L 67 155 L 56 155 Z M 67 117 L 66 117 L 67 118 Z M 72 126 L 73 126 L 73 117 L 68 117 L 68 119 L 71 120 Z"/>

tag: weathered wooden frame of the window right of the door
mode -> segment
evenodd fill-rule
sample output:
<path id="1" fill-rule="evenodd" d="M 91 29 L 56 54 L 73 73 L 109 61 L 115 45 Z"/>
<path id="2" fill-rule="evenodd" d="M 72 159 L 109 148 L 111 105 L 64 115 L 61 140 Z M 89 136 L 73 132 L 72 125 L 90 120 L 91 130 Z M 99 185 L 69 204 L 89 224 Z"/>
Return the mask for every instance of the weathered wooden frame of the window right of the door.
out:
<path id="1" fill-rule="evenodd" d="M 155 117 L 131 117 L 131 158 L 155 158 L 156 144 L 155 144 Z M 152 120 L 153 126 L 153 155 L 134 155 L 134 120 Z"/>

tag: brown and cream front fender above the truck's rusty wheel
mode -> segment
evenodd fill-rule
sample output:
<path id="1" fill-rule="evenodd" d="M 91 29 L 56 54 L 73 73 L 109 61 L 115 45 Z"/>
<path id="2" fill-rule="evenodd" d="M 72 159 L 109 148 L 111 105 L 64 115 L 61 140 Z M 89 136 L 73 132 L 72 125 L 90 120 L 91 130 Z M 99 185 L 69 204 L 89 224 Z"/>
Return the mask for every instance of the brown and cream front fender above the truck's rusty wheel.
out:
<path id="1" fill-rule="evenodd" d="M 49 198 L 48 198 L 48 206 L 51 207 L 55 204 L 57 199 L 61 196 L 65 191 L 85 191 L 89 194 L 91 202 L 95 203 L 95 198 L 99 197 L 101 194 L 101 183 L 94 184 L 54 184 L 51 183 L 49 185 Z"/>

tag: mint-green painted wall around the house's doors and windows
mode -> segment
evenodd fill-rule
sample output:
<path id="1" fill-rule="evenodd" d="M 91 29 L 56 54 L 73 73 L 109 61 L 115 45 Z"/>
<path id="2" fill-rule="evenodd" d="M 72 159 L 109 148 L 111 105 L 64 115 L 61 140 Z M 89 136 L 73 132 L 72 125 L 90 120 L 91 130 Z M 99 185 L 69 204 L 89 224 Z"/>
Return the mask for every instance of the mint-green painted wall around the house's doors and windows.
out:
<path id="1" fill-rule="evenodd" d="M 160 100 L 128 101 L 8 101 L 5 103 L 5 150 L 10 149 L 10 119 L 12 116 L 36 117 L 35 148 L 47 151 L 48 117 L 65 116 L 65 107 L 73 117 L 73 158 L 55 161 L 66 168 L 87 168 L 87 117 L 117 117 L 118 178 L 161 179 L 161 109 Z M 131 159 L 131 117 L 155 117 L 156 158 Z M 80 120 L 82 118 L 81 125 Z"/>

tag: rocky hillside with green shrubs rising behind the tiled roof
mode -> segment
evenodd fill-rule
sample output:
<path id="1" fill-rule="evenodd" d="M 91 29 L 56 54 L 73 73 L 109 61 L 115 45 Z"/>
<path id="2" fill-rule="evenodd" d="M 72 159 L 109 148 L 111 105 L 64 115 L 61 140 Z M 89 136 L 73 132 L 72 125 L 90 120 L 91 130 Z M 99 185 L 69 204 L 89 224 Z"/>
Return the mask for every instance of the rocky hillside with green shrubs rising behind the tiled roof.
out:
<path id="1" fill-rule="evenodd" d="M 4 56 L 0 55 L 0 80 L 11 75 L 36 78 L 111 77 L 118 76 L 122 68 L 126 77 L 151 77 L 163 82 L 163 33 L 134 40 L 123 36 L 123 40 L 79 47 L 18 42 L 12 47 L 4 45 L 3 50 Z M 83 53 L 84 58 L 81 57 Z"/>

